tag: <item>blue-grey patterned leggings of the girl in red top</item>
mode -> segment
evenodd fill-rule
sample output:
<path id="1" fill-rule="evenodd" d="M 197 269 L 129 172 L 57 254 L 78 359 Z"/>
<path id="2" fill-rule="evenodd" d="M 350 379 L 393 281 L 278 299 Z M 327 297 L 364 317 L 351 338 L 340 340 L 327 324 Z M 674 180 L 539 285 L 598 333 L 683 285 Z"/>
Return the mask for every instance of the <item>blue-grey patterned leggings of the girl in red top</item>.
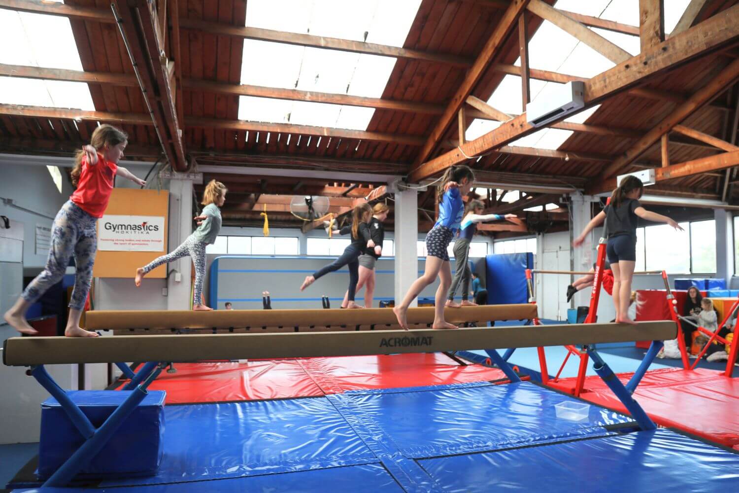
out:
<path id="1" fill-rule="evenodd" d="M 69 258 L 75 256 L 75 289 L 69 307 L 82 310 L 87 301 L 92 284 L 92 266 L 98 251 L 95 224 L 98 219 L 83 211 L 71 200 L 61 206 L 54 218 L 51 232 L 51 248 L 44 271 L 30 282 L 21 295 L 24 300 L 34 303 L 41 295 L 61 281 L 69 265 Z"/>

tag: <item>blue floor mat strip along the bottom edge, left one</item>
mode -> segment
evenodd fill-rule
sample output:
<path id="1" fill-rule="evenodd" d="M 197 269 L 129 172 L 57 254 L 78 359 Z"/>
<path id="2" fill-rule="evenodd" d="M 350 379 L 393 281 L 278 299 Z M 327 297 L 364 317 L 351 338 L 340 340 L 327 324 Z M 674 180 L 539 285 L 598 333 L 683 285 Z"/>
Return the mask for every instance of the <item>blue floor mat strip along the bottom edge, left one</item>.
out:
<path id="1" fill-rule="evenodd" d="M 14 493 L 314 493 L 314 492 L 403 492 L 386 469 L 379 464 L 336 467 L 281 475 L 239 477 L 236 479 L 197 481 L 195 483 L 124 486 L 122 488 L 38 488 L 16 489 Z"/>

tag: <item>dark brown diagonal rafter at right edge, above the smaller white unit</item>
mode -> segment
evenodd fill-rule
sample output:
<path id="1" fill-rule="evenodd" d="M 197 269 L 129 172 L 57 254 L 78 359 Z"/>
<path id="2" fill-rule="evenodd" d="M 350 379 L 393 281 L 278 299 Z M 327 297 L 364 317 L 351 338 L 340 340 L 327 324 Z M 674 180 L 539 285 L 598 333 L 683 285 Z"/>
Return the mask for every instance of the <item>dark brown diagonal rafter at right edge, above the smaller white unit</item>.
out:
<path id="1" fill-rule="evenodd" d="M 738 6 L 739 7 L 739 6 Z M 739 31 L 737 31 L 739 33 Z M 665 42 L 669 42 L 665 41 Z M 697 109 L 700 109 L 708 101 L 711 101 L 721 92 L 729 88 L 735 81 L 739 79 L 739 60 L 732 61 L 731 64 L 726 66 L 721 73 L 712 78 L 708 84 L 698 89 L 694 95 L 688 98 L 687 101 L 682 103 L 677 108 L 673 109 L 670 115 L 667 115 L 656 125 L 652 130 L 644 134 L 644 137 L 637 140 L 630 149 L 624 152 L 623 156 L 615 160 L 610 166 L 608 166 L 600 175 L 599 179 L 605 179 L 612 177 L 624 166 L 632 163 L 637 157 L 647 151 L 653 146 L 661 137 L 671 129 L 678 125 L 681 121 L 685 120 L 689 115 L 692 115 Z"/>

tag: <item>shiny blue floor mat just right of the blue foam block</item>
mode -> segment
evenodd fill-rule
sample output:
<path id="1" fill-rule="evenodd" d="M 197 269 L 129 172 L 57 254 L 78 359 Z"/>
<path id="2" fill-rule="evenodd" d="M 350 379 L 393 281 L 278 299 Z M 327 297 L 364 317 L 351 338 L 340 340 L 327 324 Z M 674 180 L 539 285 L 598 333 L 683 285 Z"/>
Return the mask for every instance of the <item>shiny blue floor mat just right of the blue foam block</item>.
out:
<path id="1" fill-rule="evenodd" d="M 167 433 L 156 476 L 106 480 L 134 486 L 377 463 L 327 398 L 165 408 Z"/>

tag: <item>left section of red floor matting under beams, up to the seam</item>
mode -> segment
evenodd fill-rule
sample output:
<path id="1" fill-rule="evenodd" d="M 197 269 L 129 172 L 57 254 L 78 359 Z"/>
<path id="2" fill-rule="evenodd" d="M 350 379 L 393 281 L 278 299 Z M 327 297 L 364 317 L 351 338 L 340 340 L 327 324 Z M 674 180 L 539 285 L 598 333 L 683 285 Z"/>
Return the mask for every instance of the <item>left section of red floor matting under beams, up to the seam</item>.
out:
<path id="1" fill-rule="evenodd" d="M 324 395 L 298 360 L 248 363 L 180 363 L 161 373 L 149 390 L 166 390 L 167 404 L 255 401 Z"/>

